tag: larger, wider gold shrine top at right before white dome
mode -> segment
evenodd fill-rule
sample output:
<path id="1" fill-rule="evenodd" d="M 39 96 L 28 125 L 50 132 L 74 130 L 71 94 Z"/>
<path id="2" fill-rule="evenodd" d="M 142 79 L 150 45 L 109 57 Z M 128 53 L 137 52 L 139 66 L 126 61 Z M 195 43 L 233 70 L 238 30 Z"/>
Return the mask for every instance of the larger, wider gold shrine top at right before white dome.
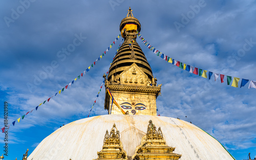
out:
<path id="1" fill-rule="evenodd" d="M 163 138 L 161 128 L 149 121 L 147 133 L 141 140 L 141 145 L 136 147 L 133 159 L 179 159 L 181 154 L 173 153 L 175 147 L 169 147 Z"/>

